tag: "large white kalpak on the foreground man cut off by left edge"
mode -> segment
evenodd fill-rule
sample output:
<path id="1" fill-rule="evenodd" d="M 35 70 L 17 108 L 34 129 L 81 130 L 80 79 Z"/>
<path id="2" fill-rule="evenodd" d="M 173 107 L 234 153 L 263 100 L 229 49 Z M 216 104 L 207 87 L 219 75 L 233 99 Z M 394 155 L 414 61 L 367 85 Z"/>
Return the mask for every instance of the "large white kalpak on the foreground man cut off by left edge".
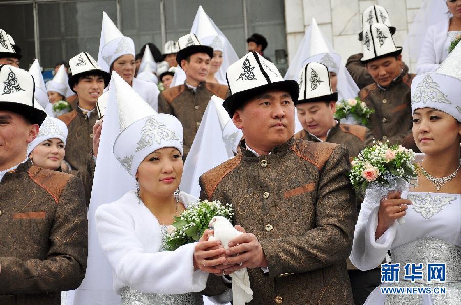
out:
<path id="1" fill-rule="evenodd" d="M 40 125 L 47 114 L 35 100 L 33 76 L 10 65 L 0 65 L 0 110 L 23 115 L 32 124 Z"/>

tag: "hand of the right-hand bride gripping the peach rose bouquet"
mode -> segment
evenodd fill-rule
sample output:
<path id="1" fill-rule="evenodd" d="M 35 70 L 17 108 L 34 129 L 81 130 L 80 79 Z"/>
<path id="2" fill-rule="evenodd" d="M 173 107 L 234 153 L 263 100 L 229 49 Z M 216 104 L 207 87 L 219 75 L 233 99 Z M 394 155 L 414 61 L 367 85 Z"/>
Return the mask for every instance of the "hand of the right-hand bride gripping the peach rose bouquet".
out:
<path id="1" fill-rule="evenodd" d="M 412 202 L 407 199 L 401 199 L 400 195 L 400 192 L 390 192 L 387 199 L 381 200 L 380 208 L 378 209 L 376 239 L 379 239 L 397 218 L 401 218 L 407 214 L 408 205 L 412 204 Z"/>

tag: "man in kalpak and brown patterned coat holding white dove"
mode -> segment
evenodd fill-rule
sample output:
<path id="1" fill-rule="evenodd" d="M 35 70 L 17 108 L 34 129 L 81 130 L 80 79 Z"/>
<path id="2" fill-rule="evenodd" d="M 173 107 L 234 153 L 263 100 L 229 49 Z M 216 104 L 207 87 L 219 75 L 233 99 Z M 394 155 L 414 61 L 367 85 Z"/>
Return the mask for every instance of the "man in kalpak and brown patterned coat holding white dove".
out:
<path id="1" fill-rule="evenodd" d="M 200 197 L 232 203 L 233 222 L 247 233 L 231 241 L 227 262 L 216 268 L 248 268 L 250 304 L 353 304 L 347 149 L 294 139 L 298 84 L 257 53 L 229 67 L 227 78 L 232 95 L 223 105 L 245 140 L 236 157 L 200 177 Z M 208 281 L 206 295 L 228 289 L 222 277 Z"/>

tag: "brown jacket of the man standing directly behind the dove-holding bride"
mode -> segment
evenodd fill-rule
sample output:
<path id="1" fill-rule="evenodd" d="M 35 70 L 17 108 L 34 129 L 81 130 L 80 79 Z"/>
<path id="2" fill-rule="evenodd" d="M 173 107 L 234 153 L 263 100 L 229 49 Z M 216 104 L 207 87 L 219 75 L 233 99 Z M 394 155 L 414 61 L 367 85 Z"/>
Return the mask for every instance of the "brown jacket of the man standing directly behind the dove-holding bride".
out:
<path id="1" fill-rule="evenodd" d="M 225 99 L 229 94 L 229 87 L 207 82 L 200 83 L 195 92 L 184 83 L 159 94 L 158 113 L 174 115 L 181 121 L 184 130 L 184 160 L 191 149 L 209 99 L 213 95 Z"/>

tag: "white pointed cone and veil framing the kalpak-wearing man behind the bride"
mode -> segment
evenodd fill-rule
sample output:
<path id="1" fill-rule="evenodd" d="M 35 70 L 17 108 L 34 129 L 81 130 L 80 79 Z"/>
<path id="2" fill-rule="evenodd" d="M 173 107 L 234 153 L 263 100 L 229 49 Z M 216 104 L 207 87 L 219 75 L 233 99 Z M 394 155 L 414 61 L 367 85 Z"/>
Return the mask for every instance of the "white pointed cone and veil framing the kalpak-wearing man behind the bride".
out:
<path id="1" fill-rule="evenodd" d="M 221 32 L 221 30 L 215 25 L 215 22 L 205 13 L 202 6 L 199 6 L 197 14 L 195 15 L 194 22 L 192 24 L 191 33 L 194 33 L 200 40 L 200 43 L 210 45 L 213 39 L 207 39 L 208 37 L 218 36 L 223 44 L 223 62 L 215 77 L 220 84 L 227 85 L 226 72 L 229 66 L 239 60 L 237 53 L 232 48 L 231 42 Z M 211 46 L 211 45 L 210 45 Z M 173 77 L 170 87 L 182 85 L 185 82 L 186 76 L 181 69 L 180 63 L 178 62 L 178 68 L 176 69 L 175 76 Z"/>

